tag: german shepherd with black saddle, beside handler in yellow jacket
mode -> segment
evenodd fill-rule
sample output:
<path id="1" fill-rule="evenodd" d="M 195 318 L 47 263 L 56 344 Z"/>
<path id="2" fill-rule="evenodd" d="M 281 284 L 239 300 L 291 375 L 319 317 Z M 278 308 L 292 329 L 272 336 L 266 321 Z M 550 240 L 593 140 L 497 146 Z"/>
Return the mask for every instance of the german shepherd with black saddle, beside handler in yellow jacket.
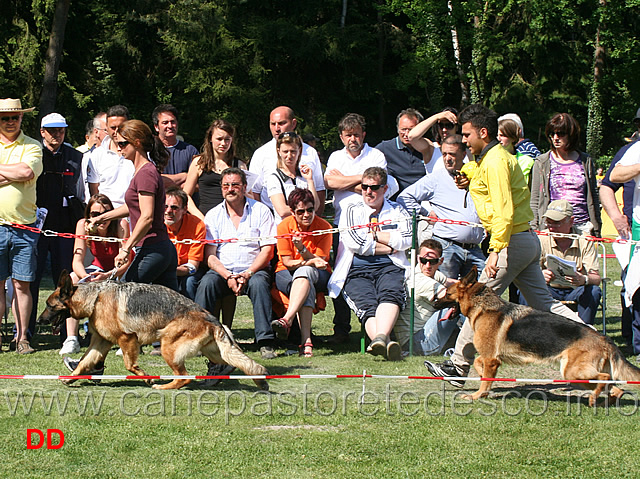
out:
<path id="1" fill-rule="evenodd" d="M 568 380 L 640 381 L 640 369 L 629 363 L 606 336 L 563 316 L 508 303 L 484 283 L 477 281 L 474 266 L 464 278 L 449 288 L 439 301 L 442 306 L 459 305 L 474 331 L 478 352 L 474 367 L 484 378 L 495 378 L 503 362 L 507 364 L 560 363 Z M 476 400 L 488 395 L 493 381 L 482 381 L 469 396 Z M 592 389 L 593 406 L 604 390 L 610 399 L 620 398 L 622 389 L 602 383 L 583 384 Z"/>

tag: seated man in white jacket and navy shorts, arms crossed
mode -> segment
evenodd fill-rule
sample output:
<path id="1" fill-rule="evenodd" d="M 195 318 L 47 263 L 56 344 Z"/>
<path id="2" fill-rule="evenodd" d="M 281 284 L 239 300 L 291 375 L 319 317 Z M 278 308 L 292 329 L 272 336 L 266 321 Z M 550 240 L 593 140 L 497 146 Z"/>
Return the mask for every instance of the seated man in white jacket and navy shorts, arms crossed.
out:
<path id="1" fill-rule="evenodd" d="M 329 294 L 335 298 L 342 291 L 372 340 L 369 353 L 398 361 L 400 345 L 389 335 L 406 302 L 409 262 L 404 251 L 411 246 L 410 218 L 401 206 L 385 200 L 383 168 L 367 168 L 360 186 L 362 199 L 348 204 L 340 216 L 340 245 Z M 389 220 L 392 223 L 372 225 Z M 356 225 L 370 226 L 353 228 Z"/>

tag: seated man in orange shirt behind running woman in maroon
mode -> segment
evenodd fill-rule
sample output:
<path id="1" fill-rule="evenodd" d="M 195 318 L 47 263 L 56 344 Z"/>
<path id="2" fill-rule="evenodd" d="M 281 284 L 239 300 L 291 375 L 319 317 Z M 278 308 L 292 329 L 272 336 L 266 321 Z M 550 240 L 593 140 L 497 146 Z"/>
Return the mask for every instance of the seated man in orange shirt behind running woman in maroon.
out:
<path id="1" fill-rule="evenodd" d="M 179 186 L 167 189 L 164 205 L 164 224 L 167 225 L 169 239 L 182 241 L 192 239 L 202 241 L 207 235 L 200 218 L 187 212 L 187 194 Z M 200 278 L 206 268 L 200 268 L 204 259 L 204 243 L 176 243 L 178 253 L 178 292 L 189 299 L 195 299 Z"/>

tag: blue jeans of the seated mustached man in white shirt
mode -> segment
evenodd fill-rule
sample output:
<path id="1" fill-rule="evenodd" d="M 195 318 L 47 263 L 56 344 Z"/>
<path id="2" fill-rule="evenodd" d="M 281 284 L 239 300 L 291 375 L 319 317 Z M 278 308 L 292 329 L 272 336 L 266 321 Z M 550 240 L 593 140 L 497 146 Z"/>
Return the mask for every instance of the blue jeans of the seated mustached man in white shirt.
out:
<path id="1" fill-rule="evenodd" d="M 261 341 L 274 340 L 276 336 L 271 329 L 271 275 L 265 270 L 253 273 L 247 283 L 246 293 L 253 304 L 256 341 L 260 344 Z M 211 312 L 219 299 L 232 294 L 225 279 L 215 271 L 209 270 L 198 285 L 196 303 Z"/>

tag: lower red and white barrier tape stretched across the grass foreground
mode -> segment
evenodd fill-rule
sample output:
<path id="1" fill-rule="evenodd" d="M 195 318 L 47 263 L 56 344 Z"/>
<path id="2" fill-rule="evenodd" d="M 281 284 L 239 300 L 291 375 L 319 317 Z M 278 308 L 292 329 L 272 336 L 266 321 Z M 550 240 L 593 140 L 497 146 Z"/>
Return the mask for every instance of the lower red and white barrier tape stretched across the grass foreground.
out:
<path id="1" fill-rule="evenodd" d="M 125 376 L 125 375 L 82 375 L 82 376 L 56 376 L 48 374 L 2 374 L 0 379 L 28 379 L 28 380 L 60 380 L 60 379 L 89 379 L 89 380 L 101 380 L 101 379 L 113 379 L 117 381 L 123 380 L 141 380 L 141 379 L 420 379 L 420 380 L 438 380 L 460 381 L 459 377 L 443 377 L 443 376 L 402 376 L 402 375 L 388 375 L 388 374 L 267 374 L 258 376 L 243 376 L 243 375 L 224 375 L 224 376 L 198 376 L 198 375 L 185 375 L 185 376 Z M 513 383 L 529 383 L 529 384 L 627 384 L 627 385 L 640 385 L 640 381 L 603 381 L 597 379 L 533 379 L 533 378 L 478 378 L 478 377 L 465 377 L 464 381 L 496 381 L 496 382 L 513 382 Z"/>

